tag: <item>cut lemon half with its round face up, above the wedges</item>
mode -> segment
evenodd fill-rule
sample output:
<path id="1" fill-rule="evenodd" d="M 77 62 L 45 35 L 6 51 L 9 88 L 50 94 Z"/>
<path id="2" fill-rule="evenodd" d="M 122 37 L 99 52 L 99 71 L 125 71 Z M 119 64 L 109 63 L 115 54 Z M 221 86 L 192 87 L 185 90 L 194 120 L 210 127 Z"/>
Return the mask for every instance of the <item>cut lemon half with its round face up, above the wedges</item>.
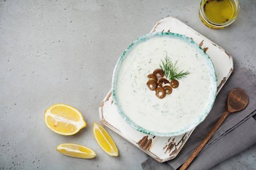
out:
<path id="1" fill-rule="evenodd" d="M 79 110 L 66 104 L 54 104 L 47 108 L 45 124 L 60 135 L 74 135 L 87 125 Z"/>

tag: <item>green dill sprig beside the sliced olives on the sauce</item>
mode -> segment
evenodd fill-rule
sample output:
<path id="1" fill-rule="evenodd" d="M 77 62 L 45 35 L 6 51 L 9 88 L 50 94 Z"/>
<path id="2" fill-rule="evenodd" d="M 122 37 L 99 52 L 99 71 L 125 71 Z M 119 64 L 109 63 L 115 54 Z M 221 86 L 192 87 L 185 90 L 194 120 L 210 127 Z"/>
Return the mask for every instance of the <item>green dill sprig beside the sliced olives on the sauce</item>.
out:
<path id="1" fill-rule="evenodd" d="M 164 57 L 164 61 L 163 60 L 161 61 L 162 61 L 162 65 L 160 64 L 160 68 L 164 72 L 164 75 L 166 76 L 166 78 L 168 78 L 169 80 L 181 79 L 182 77 L 186 77 L 186 75 L 190 74 L 188 71 L 183 72 L 183 70 L 180 71 L 180 73 L 177 73 L 178 68 L 176 67 L 176 64 L 178 61 L 173 63 L 170 60 L 170 57 L 168 57 L 167 55 Z"/>

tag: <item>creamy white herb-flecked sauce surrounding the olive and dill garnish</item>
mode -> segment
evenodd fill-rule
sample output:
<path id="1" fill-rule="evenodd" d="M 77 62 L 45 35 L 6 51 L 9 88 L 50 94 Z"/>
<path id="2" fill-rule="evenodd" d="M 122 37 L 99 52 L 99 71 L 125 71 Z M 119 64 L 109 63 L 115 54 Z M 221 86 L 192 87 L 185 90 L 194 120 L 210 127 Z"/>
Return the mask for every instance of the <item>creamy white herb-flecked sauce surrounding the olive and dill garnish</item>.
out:
<path id="1" fill-rule="evenodd" d="M 179 79 L 178 88 L 163 99 L 151 91 L 148 74 L 162 64 L 166 55 L 177 72 L 190 74 Z M 180 39 L 154 37 L 133 46 L 121 63 L 116 97 L 119 109 L 135 124 L 153 132 L 175 132 L 195 121 L 207 105 L 211 91 L 209 73 L 202 55 Z"/>

